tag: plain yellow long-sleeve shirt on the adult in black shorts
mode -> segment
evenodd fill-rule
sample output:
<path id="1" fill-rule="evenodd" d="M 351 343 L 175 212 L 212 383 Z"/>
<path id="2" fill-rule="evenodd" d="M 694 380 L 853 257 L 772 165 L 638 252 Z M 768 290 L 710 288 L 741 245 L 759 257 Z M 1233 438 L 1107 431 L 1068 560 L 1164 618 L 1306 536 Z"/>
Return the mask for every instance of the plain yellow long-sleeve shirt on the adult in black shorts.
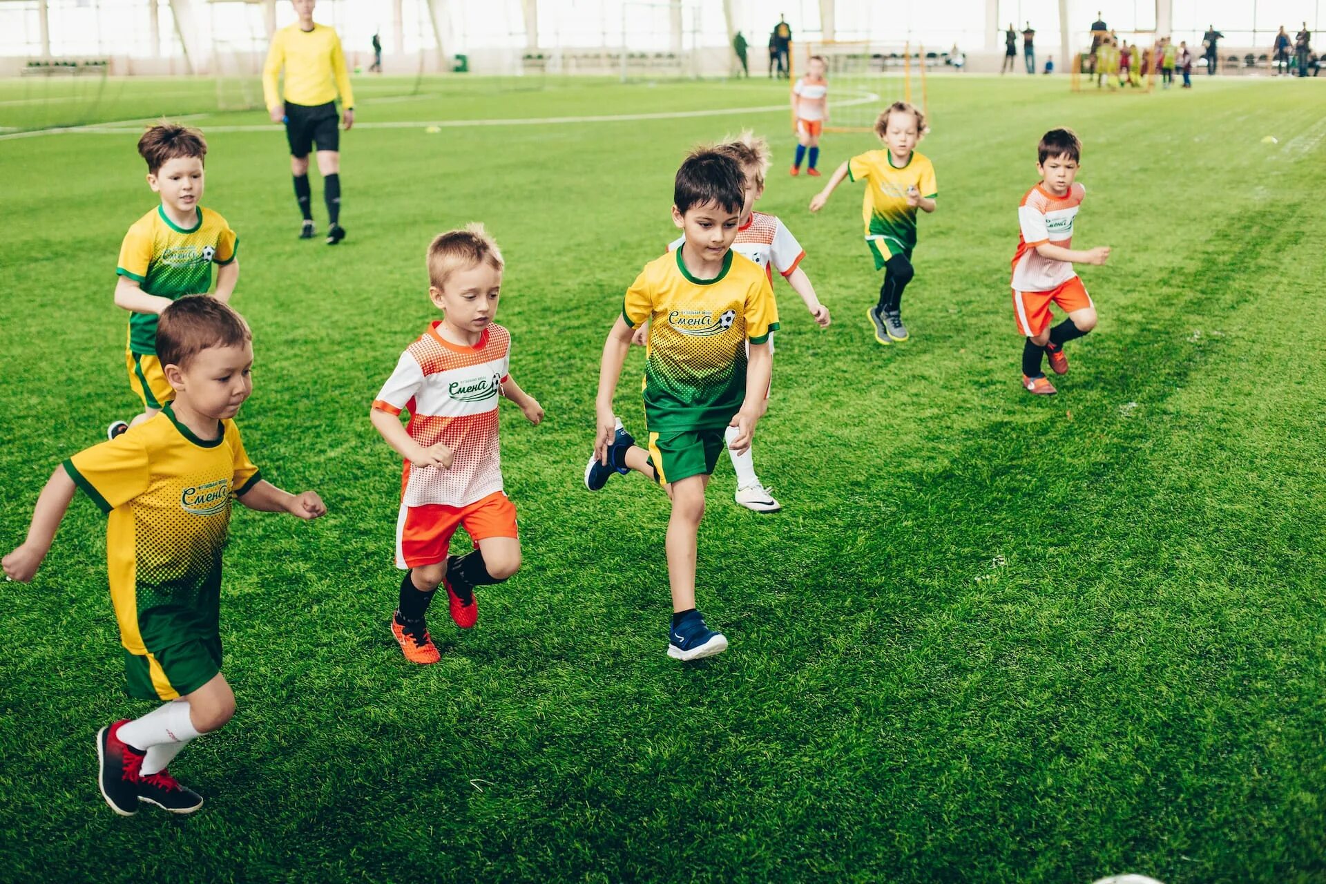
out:
<path id="1" fill-rule="evenodd" d="M 277 91 L 276 80 L 285 69 L 285 85 Z M 354 107 L 350 74 L 345 53 L 334 28 L 314 24 L 313 30 L 300 30 L 298 23 L 272 34 L 272 46 L 263 65 L 263 97 L 271 110 L 285 101 L 296 105 L 325 105 L 335 101 Z"/>

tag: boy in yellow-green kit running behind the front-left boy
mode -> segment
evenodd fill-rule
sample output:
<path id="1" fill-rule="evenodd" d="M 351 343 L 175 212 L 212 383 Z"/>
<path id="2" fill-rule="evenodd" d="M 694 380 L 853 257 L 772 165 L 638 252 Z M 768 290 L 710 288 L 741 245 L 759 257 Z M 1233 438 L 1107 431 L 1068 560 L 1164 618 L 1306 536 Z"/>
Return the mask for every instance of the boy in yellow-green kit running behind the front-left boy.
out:
<path id="1" fill-rule="evenodd" d="M 239 237 L 224 217 L 199 204 L 207 156 L 203 134 L 160 123 L 138 139 L 138 152 L 147 160 L 147 184 L 162 201 L 134 221 L 119 247 L 115 306 L 131 311 L 125 363 L 143 412 L 129 423 L 111 423 L 106 431 L 111 439 L 155 415 L 175 395 L 156 357 L 160 311 L 182 296 L 206 294 L 213 264 L 217 301 L 229 301 L 240 278 Z"/>

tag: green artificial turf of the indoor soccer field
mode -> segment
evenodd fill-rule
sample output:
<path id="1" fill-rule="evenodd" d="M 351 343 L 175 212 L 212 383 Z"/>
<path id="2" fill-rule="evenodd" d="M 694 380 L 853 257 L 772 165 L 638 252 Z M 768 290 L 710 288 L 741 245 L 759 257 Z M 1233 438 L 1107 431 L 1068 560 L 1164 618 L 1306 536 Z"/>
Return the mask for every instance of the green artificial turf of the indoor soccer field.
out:
<path id="1" fill-rule="evenodd" d="M 1319 83 L 932 78 L 940 208 L 912 339 L 879 347 L 859 186 L 806 211 L 785 110 L 424 131 L 782 106 L 782 85 L 448 78 L 410 97 L 358 78 L 359 122 L 418 125 L 342 137 L 349 239 L 330 249 L 296 239 L 284 135 L 245 129 L 261 111 L 210 113 L 206 81 L 110 82 L 117 102 L 77 122 L 200 114 L 203 201 L 240 235 L 255 330 L 247 448 L 329 514 L 236 509 L 239 713 L 171 766 L 207 806 L 121 819 L 93 737 L 150 704 L 122 694 L 105 521 L 76 498 L 34 582 L 4 584 L 0 879 L 1326 880 Z M 1042 399 L 1018 386 L 1008 277 L 1037 138 L 1061 125 L 1085 142 L 1077 245 L 1114 253 L 1082 269 L 1099 327 Z M 785 509 L 735 506 L 720 464 L 699 600 L 732 647 L 679 665 L 666 497 L 581 477 L 603 335 L 675 235 L 672 174 L 743 126 L 773 140 L 758 208 L 801 240 L 834 323 L 777 282 L 754 452 Z M 5 550 L 54 465 L 137 403 L 111 302 L 121 237 L 154 205 L 137 131 L 0 140 Z M 871 147 L 829 135 L 822 166 Z M 497 321 L 548 417 L 503 406 L 524 570 L 480 590 L 472 632 L 436 607 L 442 663 L 414 667 L 387 631 L 399 461 L 369 403 L 435 318 L 424 247 L 472 220 L 505 253 Z M 635 351 L 618 395 L 635 431 L 640 368 Z"/>

